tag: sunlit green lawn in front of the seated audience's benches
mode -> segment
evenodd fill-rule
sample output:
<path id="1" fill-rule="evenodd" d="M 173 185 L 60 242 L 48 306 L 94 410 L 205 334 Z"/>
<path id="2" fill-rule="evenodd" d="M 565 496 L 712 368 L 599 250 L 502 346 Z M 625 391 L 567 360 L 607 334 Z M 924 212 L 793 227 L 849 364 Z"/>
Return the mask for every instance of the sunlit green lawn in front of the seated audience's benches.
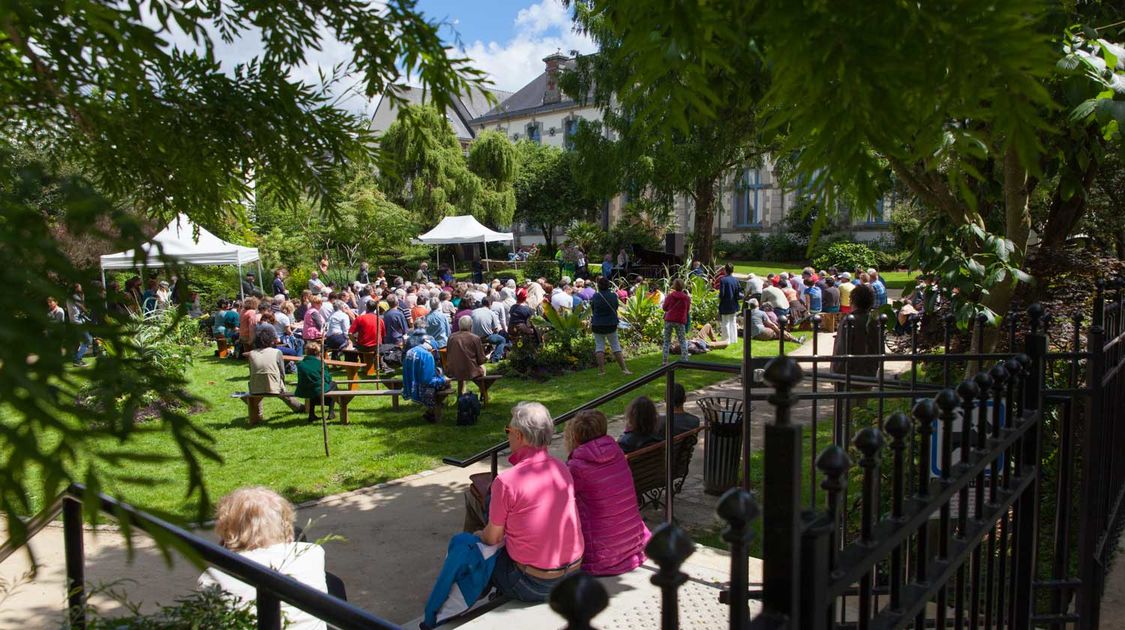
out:
<path id="1" fill-rule="evenodd" d="M 775 342 L 753 342 L 756 356 L 772 356 Z M 701 360 L 737 364 L 742 346 L 713 351 Z M 634 374 L 659 366 L 659 353 L 631 359 Z M 488 406 L 475 426 L 456 426 L 456 414 L 447 413 L 442 424 L 422 420 L 421 407 L 403 403 L 398 412 L 390 400 L 358 398 L 350 406 L 351 424 L 328 424 L 331 457 L 324 456 L 321 425 L 308 424 L 303 414 L 290 413 L 281 400 L 263 404 L 266 422 L 250 428 L 246 405 L 230 396 L 245 390 L 246 367 L 234 360 L 220 360 L 210 350 L 200 349 L 189 371 L 191 392 L 207 400 L 207 408 L 195 414 L 195 421 L 215 438 L 215 449 L 223 456 L 220 464 L 206 465 L 206 480 L 213 497 L 244 485 L 273 487 L 294 502 L 308 501 L 340 492 L 361 488 L 396 479 L 441 465 L 446 456 L 467 457 L 504 440 L 508 410 L 520 400 L 538 400 L 560 414 L 614 387 L 630 377 L 615 367 L 605 377 L 588 369 L 549 379 L 543 382 L 507 378 L 489 392 Z M 677 380 L 688 392 L 717 382 L 727 375 L 685 372 Z M 289 377 L 290 386 L 294 377 Z M 650 384 L 636 395 L 663 398 L 663 381 Z M 632 396 L 624 396 L 602 407 L 608 415 L 622 413 Z M 164 433 L 141 434 L 133 449 L 144 452 L 174 454 L 177 451 Z M 128 465 L 106 470 L 118 479 L 107 488 L 129 502 L 159 514 L 192 518 L 195 504 L 184 497 L 186 467 L 171 465 Z M 148 480 L 128 482 L 123 479 Z"/>

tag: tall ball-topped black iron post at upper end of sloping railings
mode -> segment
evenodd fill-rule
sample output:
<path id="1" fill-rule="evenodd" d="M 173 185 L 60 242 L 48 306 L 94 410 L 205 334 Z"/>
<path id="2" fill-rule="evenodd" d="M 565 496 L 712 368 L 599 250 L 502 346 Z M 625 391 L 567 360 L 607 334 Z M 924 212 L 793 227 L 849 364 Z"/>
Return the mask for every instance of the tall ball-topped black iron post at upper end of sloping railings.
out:
<path id="1" fill-rule="evenodd" d="M 1024 490 L 1016 501 L 1016 570 L 1015 591 L 1011 594 L 1014 628 L 1030 628 L 1032 613 L 1035 608 L 1035 567 L 1038 551 L 1038 508 L 1040 508 L 1040 449 L 1038 435 L 1040 425 L 1043 422 L 1043 387 L 1045 379 L 1045 356 L 1047 353 L 1047 338 L 1041 330 L 1043 307 L 1033 304 L 1027 309 L 1030 332 L 1027 335 L 1027 356 L 1030 358 L 1030 366 L 1024 376 L 1024 416 L 1019 422 L 1033 422 L 1024 433 L 1023 440 L 1017 448 L 1018 466 L 1017 472 L 1023 475 L 1034 475 L 1035 480 Z"/>

